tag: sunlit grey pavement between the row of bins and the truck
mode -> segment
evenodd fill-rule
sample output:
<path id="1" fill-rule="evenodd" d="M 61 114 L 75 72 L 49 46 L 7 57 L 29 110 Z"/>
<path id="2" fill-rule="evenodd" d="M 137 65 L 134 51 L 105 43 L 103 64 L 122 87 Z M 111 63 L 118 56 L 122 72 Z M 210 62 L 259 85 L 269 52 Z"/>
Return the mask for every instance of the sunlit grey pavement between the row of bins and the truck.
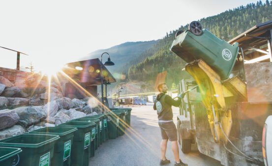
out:
<path id="1" fill-rule="evenodd" d="M 156 112 L 151 105 L 132 109 L 130 130 L 126 130 L 124 136 L 103 142 L 89 166 L 159 166 L 161 136 Z M 175 109 L 174 119 L 177 115 L 178 109 Z M 167 146 L 166 157 L 171 160 L 168 166 L 173 166 L 171 143 Z M 196 150 L 186 155 L 180 151 L 180 157 L 189 166 L 221 166 L 220 162 Z"/>

